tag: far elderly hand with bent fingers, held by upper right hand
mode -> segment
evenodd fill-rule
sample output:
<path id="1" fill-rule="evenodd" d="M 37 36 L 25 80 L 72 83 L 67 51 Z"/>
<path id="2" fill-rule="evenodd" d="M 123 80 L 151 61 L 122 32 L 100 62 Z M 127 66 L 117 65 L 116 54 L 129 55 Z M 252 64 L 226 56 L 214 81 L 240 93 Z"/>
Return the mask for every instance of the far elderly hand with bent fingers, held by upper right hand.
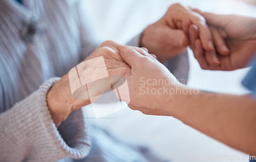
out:
<path id="1" fill-rule="evenodd" d="M 206 51 L 214 50 L 211 33 L 204 17 L 180 4 L 170 6 L 161 19 L 143 31 L 140 40 L 141 47 L 145 47 L 150 53 L 155 54 L 160 62 L 165 62 L 179 55 L 186 50 L 189 44 L 187 34 L 178 28 L 184 19 L 189 19 L 192 24 L 199 28 L 203 49 Z M 185 27 L 187 26 L 189 27 L 189 24 L 185 25 Z M 214 58 L 215 64 L 219 63 L 216 55 L 211 57 Z"/>

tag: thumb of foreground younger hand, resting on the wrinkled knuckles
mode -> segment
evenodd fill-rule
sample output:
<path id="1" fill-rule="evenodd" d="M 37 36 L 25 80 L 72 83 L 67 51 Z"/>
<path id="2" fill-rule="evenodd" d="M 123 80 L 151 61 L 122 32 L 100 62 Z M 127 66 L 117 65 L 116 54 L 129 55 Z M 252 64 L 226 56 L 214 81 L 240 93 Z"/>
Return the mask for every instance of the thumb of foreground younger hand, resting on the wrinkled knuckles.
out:
<path id="1" fill-rule="evenodd" d="M 122 57 L 122 59 L 131 67 L 136 66 L 138 64 L 138 61 L 144 57 L 138 51 L 127 45 L 119 47 L 118 51 L 120 52 L 120 56 Z"/>

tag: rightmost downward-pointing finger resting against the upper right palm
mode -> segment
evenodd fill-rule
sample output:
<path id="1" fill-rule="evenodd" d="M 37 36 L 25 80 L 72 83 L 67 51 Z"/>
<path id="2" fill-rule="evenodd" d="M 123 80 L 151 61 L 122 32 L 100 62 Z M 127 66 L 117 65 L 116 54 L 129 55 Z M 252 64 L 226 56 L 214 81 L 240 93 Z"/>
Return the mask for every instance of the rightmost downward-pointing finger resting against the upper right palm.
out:
<path id="1" fill-rule="evenodd" d="M 215 47 L 216 47 L 218 53 L 223 56 L 227 56 L 229 54 L 229 49 L 226 45 L 225 40 L 220 35 L 218 29 L 214 28 L 214 27 L 209 27 L 209 28 L 211 30 L 212 39 L 214 39 L 214 44 L 215 44 Z"/>

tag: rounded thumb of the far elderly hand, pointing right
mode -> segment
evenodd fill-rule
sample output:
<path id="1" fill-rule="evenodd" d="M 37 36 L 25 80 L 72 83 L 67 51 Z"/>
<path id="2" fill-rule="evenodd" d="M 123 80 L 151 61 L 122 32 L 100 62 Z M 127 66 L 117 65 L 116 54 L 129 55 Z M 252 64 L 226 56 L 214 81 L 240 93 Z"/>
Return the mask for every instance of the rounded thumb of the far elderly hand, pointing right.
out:
<path id="1" fill-rule="evenodd" d="M 159 29 L 159 33 L 162 35 L 163 41 L 169 45 L 173 45 L 175 47 L 187 47 L 189 43 L 188 37 L 183 30 L 163 26 Z"/>

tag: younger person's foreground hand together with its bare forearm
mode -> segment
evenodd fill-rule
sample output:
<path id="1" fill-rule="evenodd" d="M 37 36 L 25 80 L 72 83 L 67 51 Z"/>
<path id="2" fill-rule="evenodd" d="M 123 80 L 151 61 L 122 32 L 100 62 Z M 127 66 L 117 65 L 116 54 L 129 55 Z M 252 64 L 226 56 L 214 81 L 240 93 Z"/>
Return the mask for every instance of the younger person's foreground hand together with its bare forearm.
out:
<path id="1" fill-rule="evenodd" d="M 125 88 L 119 89 L 130 108 L 144 114 L 173 116 L 230 147 L 256 154 L 254 98 L 189 88 L 150 54 L 127 46 L 120 49 L 120 55 L 132 68 L 125 76 L 130 94 Z M 130 100 L 124 95 L 130 95 Z"/>

